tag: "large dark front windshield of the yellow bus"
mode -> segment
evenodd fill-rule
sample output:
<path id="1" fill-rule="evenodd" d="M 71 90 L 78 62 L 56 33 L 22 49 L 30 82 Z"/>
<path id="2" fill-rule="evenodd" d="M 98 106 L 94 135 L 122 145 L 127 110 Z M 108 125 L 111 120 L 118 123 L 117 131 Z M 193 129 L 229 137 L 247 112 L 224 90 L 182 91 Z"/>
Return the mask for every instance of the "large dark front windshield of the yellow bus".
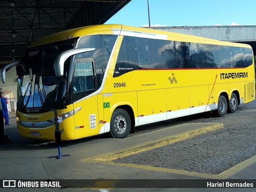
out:
<path id="1" fill-rule="evenodd" d="M 19 111 L 43 113 L 48 111 L 44 106 L 46 99 L 47 101 L 63 99 L 68 69 L 64 70 L 66 73 L 63 77 L 56 77 L 54 61 L 63 51 L 74 48 L 74 44 L 74 40 L 69 40 L 50 46 L 28 49 L 18 76 L 17 108 Z M 69 67 L 69 64 L 70 59 L 67 59 L 65 66 Z"/>

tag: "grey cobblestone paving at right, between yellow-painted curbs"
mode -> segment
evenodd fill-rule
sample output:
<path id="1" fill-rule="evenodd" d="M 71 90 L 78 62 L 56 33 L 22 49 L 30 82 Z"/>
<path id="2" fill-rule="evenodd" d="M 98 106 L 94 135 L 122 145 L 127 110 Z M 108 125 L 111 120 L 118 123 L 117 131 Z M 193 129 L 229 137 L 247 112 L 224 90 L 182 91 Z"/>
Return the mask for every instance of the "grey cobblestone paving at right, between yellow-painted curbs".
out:
<path id="1" fill-rule="evenodd" d="M 201 173 L 218 174 L 256 155 L 256 101 L 241 105 L 236 113 L 214 118 L 197 115 L 190 122 L 222 121 L 224 129 L 196 137 L 189 141 L 156 148 L 115 160 L 118 163 L 133 163 L 173 168 Z M 179 118 L 180 119 L 180 118 Z M 189 119 L 191 119 L 189 117 Z M 177 122 L 177 124 L 179 124 Z"/>

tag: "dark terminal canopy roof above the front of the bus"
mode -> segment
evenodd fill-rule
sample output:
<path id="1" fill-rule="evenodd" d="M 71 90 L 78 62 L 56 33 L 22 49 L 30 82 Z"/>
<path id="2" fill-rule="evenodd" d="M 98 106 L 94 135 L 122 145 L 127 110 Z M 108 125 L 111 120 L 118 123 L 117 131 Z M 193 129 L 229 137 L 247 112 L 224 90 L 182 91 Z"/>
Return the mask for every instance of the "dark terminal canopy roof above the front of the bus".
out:
<path id="1" fill-rule="evenodd" d="M 35 40 L 104 24 L 131 0 L 1 0 L 0 63 L 21 59 Z"/>

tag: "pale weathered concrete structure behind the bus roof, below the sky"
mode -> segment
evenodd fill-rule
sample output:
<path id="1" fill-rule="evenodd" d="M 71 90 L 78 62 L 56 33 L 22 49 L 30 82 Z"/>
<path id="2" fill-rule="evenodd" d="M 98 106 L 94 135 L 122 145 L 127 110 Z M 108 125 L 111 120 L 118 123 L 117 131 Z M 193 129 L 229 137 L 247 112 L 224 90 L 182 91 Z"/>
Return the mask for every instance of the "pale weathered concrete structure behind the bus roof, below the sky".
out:
<path id="1" fill-rule="evenodd" d="M 252 46 L 256 55 L 256 26 L 184 26 L 184 27 L 150 27 L 163 30 L 211 38 L 221 41 L 238 42 Z"/>

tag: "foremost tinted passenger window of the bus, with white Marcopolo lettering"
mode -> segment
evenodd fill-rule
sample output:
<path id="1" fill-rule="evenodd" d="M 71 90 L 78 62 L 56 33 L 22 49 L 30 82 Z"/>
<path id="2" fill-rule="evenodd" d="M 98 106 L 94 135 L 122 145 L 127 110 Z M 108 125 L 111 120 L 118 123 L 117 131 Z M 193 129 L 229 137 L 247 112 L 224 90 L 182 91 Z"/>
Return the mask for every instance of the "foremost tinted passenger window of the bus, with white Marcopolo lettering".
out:
<path id="1" fill-rule="evenodd" d="M 124 36 L 113 77 L 118 77 L 130 71 L 139 69 L 137 38 Z"/>

